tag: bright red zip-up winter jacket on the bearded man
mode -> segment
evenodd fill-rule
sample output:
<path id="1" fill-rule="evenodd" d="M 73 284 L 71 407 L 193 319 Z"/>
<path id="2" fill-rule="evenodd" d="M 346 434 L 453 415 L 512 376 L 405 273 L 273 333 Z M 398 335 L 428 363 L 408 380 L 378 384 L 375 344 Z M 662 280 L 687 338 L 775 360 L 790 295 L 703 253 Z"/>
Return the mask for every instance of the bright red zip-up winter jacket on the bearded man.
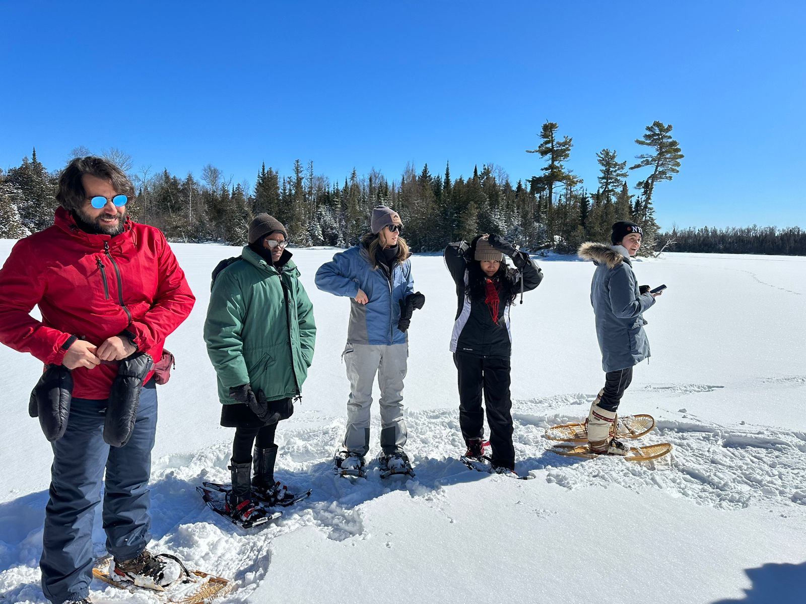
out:
<path id="1" fill-rule="evenodd" d="M 58 208 L 0 269 L 0 342 L 59 365 L 72 336 L 100 345 L 126 330 L 156 362 L 195 300 L 159 229 L 127 219 L 116 237 L 88 234 Z M 36 305 L 42 321 L 29 314 Z M 117 371 L 117 362 L 73 370 L 73 396 L 106 399 Z"/>

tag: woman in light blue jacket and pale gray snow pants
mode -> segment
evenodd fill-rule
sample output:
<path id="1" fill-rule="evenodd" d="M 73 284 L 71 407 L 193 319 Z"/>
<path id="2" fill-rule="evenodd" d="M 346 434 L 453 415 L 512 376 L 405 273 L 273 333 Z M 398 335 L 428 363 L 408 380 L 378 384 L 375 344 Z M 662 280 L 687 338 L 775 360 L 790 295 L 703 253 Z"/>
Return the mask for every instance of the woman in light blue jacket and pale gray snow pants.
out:
<path id="1" fill-rule="evenodd" d="M 369 451 L 372 383 L 380 386 L 380 464 L 394 473 L 410 470 L 403 451 L 403 379 L 409 357 L 413 308 L 425 296 L 414 292 L 409 247 L 401 238 L 403 223 L 393 209 L 372 210 L 372 233 L 359 245 L 335 254 L 319 267 L 316 287 L 351 298 L 347 346 L 342 358 L 350 380 L 347 433 L 336 453 L 336 465 L 349 474 L 364 474 Z"/>

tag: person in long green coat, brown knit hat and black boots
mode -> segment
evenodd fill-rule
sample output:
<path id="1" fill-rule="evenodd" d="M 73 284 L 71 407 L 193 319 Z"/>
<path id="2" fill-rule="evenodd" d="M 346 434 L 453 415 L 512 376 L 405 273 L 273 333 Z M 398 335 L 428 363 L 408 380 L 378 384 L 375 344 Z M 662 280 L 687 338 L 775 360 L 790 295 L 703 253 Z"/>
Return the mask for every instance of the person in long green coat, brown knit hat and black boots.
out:
<path id="1" fill-rule="evenodd" d="M 213 271 L 204 338 L 218 376 L 221 425 L 235 428 L 226 511 L 240 522 L 296 499 L 274 480 L 274 435 L 301 395 L 316 326 L 287 238 L 280 221 L 258 214 L 240 257 Z"/>

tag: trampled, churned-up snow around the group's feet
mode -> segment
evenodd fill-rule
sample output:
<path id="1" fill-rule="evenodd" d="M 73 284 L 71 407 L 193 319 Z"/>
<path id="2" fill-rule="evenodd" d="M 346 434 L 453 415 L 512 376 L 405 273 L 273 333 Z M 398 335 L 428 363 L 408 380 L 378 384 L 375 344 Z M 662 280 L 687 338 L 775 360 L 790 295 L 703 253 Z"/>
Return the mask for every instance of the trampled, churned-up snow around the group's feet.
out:
<path id="1" fill-rule="evenodd" d="M 781 380 L 790 383 L 792 380 Z M 797 380 L 795 380 L 798 383 Z M 782 384 L 783 385 L 783 384 Z M 581 460 L 546 451 L 543 436 L 553 424 L 583 418 L 593 399 L 588 394 L 565 394 L 513 401 L 517 470 L 569 490 L 606 488 L 662 490 L 673 498 L 686 498 L 730 511 L 744 507 L 775 509 L 781 515 L 803 513 L 806 506 L 806 433 L 766 426 L 715 424 L 688 412 L 688 397 L 702 396 L 718 386 L 683 384 L 647 386 L 653 405 L 635 412 L 650 412 L 658 422 L 640 442 L 670 442 L 674 451 L 657 461 L 626 463 L 612 457 Z M 662 407 L 656 397 L 660 399 Z M 664 409 L 663 407 L 667 407 Z M 682 407 L 682 408 L 681 408 Z M 368 457 L 367 478 L 340 478 L 332 471 L 332 455 L 343 436 L 343 418 L 300 412 L 278 431 L 280 456 L 276 477 L 291 490 L 313 489 L 310 499 L 283 509 L 275 523 L 249 531 L 234 527 L 212 514 L 195 487 L 204 480 L 228 482 L 230 434 L 226 440 L 193 454 L 173 455 L 155 461 L 152 473 L 152 551 L 181 556 L 193 568 L 239 582 L 239 590 L 225 602 L 248 602 L 272 565 L 273 542 L 302 527 L 344 541 L 364 539 L 363 503 L 383 498 L 393 490 L 407 493 L 423 506 L 442 509 L 450 498 L 447 487 L 457 482 L 490 480 L 510 488 L 513 481 L 469 472 L 459 461 L 464 445 L 455 408 L 409 412 L 407 453 L 417 478 L 380 479 L 378 465 Z M 377 418 L 372 426 L 371 454 L 377 454 Z M 224 433 L 222 432 L 222 436 Z M 529 489 L 529 483 L 518 488 Z M 38 559 L 41 550 L 42 510 L 48 494 L 42 491 L 0 504 L 0 595 L 10 602 L 44 602 L 39 590 Z M 789 512 L 787 512 L 787 510 Z M 95 553 L 104 553 L 100 515 L 94 534 Z M 93 593 L 98 585 L 93 584 Z M 117 600 L 113 588 L 103 602 Z"/>

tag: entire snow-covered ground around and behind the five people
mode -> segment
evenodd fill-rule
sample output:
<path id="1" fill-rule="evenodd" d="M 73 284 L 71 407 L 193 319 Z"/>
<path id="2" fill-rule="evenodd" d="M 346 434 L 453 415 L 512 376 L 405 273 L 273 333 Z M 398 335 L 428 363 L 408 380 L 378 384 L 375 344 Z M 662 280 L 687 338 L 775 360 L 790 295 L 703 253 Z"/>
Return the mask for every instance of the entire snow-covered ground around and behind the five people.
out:
<path id="1" fill-rule="evenodd" d="M 12 243 L 0 241 L 0 261 Z M 202 323 L 210 270 L 238 250 L 172 247 L 197 305 L 168 339 L 177 369 L 159 390 L 152 550 L 238 581 L 225 602 L 806 602 L 806 258 L 636 263 L 641 283 L 669 288 L 646 313 L 653 355 L 636 367 L 621 412 L 654 415 L 658 428 L 642 441 L 675 446 L 643 464 L 546 452 L 544 429 L 582 418 L 603 374 L 592 265 L 538 259 L 545 279 L 512 311 L 517 470 L 536 479 L 515 481 L 458 461 L 454 286 L 440 256 L 414 256 L 427 298 L 413 317 L 405 385 L 417 478 L 381 481 L 374 470 L 351 482 L 330 464 L 344 428 L 348 302 L 314 286 L 334 250 L 294 250 L 318 337 L 303 403 L 278 430 L 278 476 L 314 493 L 246 532 L 194 489 L 228 479 L 234 431 L 218 426 Z M 0 366 L 0 602 L 45 602 L 50 448 L 27 416 L 40 365 L 0 347 Z M 377 410 L 374 420 L 376 452 Z M 101 555 L 100 518 L 95 543 Z M 152 601 L 98 582 L 92 597 Z"/>

